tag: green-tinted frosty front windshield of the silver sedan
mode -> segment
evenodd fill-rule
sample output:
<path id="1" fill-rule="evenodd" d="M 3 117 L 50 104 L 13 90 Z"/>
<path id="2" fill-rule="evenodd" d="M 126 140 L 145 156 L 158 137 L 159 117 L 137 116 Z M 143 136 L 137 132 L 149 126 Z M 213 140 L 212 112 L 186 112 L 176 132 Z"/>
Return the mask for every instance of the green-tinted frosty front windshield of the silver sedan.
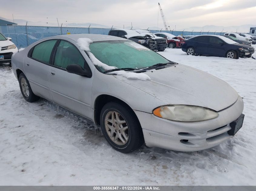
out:
<path id="1" fill-rule="evenodd" d="M 145 68 L 169 62 L 158 53 L 133 41 L 112 40 L 90 44 L 91 53 L 101 62 L 117 68 Z"/>

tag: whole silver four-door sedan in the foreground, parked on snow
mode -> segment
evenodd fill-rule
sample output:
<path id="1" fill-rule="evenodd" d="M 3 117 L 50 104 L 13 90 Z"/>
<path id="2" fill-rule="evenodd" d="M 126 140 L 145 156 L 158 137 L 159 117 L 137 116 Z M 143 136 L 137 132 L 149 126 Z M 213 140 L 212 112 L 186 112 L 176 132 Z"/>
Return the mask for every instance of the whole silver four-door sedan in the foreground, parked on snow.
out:
<path id="1" fill-rule="evenodd" d="M 25 100 L 43 97 L 90 119 L 123 153 L 144 142 L 203 150 L 242 127 L 244 103 L 228 83 L 124 38 L 48 37 L 15 53 L 12 65 Z"/>

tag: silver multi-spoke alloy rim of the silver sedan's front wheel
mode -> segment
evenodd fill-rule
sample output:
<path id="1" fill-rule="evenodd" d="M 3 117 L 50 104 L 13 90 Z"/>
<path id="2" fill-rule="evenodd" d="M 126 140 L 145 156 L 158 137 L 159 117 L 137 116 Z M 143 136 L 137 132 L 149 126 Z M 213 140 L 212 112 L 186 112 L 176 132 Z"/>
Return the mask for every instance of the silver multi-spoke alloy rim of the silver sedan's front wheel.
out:
<path id="1" fill-rule="evenodd" d="M 125 145 L 129 139 L 129 128 L 123 116 L 109 111 L 105 117 L 105 129 L 109 138 L 117 145 Z"/>

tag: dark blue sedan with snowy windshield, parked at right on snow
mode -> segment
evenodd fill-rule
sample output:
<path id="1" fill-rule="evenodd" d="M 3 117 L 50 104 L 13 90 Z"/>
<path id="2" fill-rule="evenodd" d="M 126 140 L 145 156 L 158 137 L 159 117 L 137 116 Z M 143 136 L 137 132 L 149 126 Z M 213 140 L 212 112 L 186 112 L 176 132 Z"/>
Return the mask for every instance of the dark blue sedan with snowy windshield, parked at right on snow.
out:
<path id="1" fill-rule="evenodd" d="M 181 49 L 188 55 L 208 55 L 233 59 L 249 58 L 254 53 L 252 46 L 238 44 L 219 35 L 199 35 L 187 39 Z"/>

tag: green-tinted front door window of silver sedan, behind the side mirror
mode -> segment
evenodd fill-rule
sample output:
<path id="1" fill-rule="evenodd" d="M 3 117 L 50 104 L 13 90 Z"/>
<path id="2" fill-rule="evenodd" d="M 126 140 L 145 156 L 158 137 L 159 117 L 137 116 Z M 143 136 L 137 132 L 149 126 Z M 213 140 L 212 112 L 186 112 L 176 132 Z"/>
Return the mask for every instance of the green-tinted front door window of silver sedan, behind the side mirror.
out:
<path id="1" fill-rule="evenodd" d="M 73 44 L 62 40 L 57 47 L 54 65 L 66 68 L 70 64 L 78 64 L 84 68 L 85 60 Z"/>

